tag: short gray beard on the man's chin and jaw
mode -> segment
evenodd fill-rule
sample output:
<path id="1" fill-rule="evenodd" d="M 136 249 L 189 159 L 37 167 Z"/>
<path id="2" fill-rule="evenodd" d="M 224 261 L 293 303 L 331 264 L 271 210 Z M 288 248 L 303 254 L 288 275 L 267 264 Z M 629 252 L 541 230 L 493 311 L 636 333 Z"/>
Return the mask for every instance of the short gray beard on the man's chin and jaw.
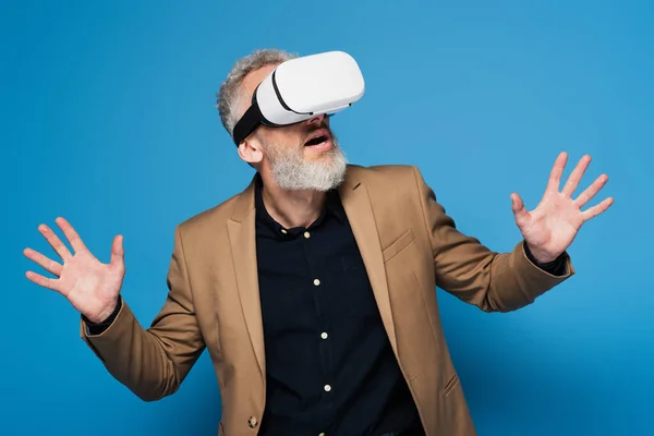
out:
<path id="1" fill-rule="evenodd" d="M 323 155 L 329 156 L 329 162 L 319 158 L 315 161 L 304 160 L 301 149 L 283 153 L 276 146 L 266 147 L 266 156 L 279 187 L 323 192 L 338 187 L 346 179 L 348 159 L 336 136 L 332 135 L 331 141 L 334 148 Z"/>

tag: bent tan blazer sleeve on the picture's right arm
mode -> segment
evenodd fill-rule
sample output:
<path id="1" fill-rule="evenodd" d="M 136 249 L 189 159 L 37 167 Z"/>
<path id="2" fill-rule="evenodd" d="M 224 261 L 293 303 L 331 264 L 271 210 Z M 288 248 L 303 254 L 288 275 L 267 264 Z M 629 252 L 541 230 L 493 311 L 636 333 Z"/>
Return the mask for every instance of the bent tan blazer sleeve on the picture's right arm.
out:
<path id="1" fill-rule="evenodd" d="M 523 307 L 574 274 L 564 253 L 561 275 L 552 275 L 532 263 L 520 241 L 510 253 L 497 253 L 477 239 L 457 230 L 436 201 L 420 170 L 413 168 L 420 204 L 431 238 L 436 286 L 485 312 Z"/>

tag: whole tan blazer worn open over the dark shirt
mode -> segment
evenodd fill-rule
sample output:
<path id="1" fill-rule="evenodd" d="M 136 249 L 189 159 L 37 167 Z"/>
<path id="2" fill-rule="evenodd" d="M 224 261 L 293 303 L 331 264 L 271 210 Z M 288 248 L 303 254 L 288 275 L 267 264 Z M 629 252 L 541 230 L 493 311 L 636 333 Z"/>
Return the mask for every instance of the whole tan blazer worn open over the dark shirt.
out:
<path id="1" fill-rule="evenodd" d="M 414 167 L 349 166 L 340 195 L 426 434 L 474 435 L 435 288 L 486 312 L 512 311 L 570 277 L 570 258 L 566 274 L 555 277 L 529 261 L 522 242 L 498 254 L 462 234 Z M 206 348 L 222 397 L 218 434 L 256 435 L 266 361 L 254 183 L 177 227 L 168 287 L 148 329 L 123 301 L 101 335 L 89 337 L 82 323 L 82 338 L 145 401 L 173 393 Z"/>

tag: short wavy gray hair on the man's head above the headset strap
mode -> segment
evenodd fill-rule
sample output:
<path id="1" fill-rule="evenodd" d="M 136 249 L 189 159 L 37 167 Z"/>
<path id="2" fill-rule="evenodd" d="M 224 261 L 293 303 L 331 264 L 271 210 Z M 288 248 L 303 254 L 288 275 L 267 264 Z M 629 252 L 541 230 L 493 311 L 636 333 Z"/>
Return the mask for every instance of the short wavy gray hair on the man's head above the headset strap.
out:
<path id="1" fill-rule="evenodd" d="M 220 113 L 220 121 L 230 136 L 238 121 L 235 116 L 242 99 L 241 83 L 243 82 L 243 77 L 262 66 L 278 64 L 296 57 L 298 55 L 289 53 L 284 50 L 266 48 L 254 50 L 251 55 L 237 61 L 225 82 L 220 85 L 216 102 L 216 107 Z"/>

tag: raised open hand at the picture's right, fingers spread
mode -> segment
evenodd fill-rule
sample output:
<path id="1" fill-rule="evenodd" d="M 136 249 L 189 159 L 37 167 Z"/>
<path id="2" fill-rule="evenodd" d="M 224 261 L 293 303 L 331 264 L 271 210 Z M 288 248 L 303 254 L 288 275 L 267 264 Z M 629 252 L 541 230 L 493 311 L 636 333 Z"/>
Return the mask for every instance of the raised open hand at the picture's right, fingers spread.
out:
<path id="1" fill-rule="evenodd" d="M 608 181 L 606 174 L 600 175 L 577 198 L 572 198 L 572 194 L 591 161 L 591 157 L 588 155 L 581 158 L 559 192 L 567 159 L 566 153 L 561 153 L 557 157 L 545 194 L 535 209 L 528 211 L 522 198 L 516 193 L 511 194 L 516 225 L 538 262 L 546 263 L 556 259 L 570 246 L 585 221 L 604 213 L 613 204 L 613 197 L 608 197 L 586 210 L 581 210 L 606 184 Z"/>

